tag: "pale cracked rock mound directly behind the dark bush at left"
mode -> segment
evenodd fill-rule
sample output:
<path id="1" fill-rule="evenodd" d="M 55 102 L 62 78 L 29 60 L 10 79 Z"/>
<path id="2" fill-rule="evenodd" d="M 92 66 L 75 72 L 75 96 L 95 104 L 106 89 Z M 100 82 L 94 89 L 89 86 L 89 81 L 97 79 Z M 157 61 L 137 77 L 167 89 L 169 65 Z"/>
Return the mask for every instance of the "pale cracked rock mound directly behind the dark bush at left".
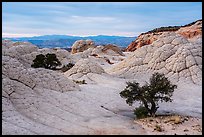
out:
<path id="1" fill-rule="evenodd" d="M 18 59 L 26 67 L 31 67 L 33 60 L 37 55 L 46 55 L 47 53 L 56 54 L 62 65 L 66 65 L 72 60 L 70 58 L 70 53 L 63 49 L 39 49 L 37 46 L 27 42 L 18 42 L 16 44 L 16 42 L 2 41 L 2 54 Z"/>

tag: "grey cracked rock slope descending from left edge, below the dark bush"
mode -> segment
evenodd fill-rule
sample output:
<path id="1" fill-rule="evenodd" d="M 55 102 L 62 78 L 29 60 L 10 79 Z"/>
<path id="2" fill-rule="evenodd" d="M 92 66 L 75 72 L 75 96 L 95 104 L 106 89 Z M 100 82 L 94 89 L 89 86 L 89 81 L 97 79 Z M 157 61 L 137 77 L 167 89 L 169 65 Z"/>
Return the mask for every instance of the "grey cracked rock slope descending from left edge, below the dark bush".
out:
<path id="1" fill-rule="evenodd" d="M 20 82 L 31 89 L 46 88 L 59 92 L 78 90 L 79 87 L 63 74 L 43 68 L 26 68 L 17 59 L 2 57 L 2 74 L 6 79 Z"/>

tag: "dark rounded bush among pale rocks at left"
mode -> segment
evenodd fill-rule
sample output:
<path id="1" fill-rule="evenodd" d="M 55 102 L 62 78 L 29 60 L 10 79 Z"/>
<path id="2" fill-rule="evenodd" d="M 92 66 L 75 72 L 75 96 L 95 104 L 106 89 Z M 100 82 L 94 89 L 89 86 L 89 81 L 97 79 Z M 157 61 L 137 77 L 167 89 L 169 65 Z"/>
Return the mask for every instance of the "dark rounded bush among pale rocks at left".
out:
<path id="1" fill-rule="evenodd" d="M 34 68 L 46 68 L 55 70 L 57 66 L 61 65 L 61 62 L 57 59 L 55 54 L 39 54 L 33 60 L 31 67 Z"/>

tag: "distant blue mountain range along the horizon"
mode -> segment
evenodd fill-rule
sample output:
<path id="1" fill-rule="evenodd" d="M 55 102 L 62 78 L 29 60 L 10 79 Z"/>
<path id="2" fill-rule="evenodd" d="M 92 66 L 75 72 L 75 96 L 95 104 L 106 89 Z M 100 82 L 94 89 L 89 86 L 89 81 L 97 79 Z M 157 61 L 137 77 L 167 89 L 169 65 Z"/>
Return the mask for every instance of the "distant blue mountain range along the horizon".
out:
<path id="1" fill-rule="evenodd" d="M 108 35 L 98 35 L 98 36 L 69 36 L 69 35 L 43 35 L 34 37 L 21 37 L 21 38 L 3 38 L 10 39 L 12 41 L 28 41 L 32 44 L 39 46 L 40 48 L 53 48 L 61 47 L 68 48 L 73 45 L 77 40 L 93 40 L 96 45 L 104 44 L 116 44 L 120 47 L 127 47 L 136 37 L 124 37 L 124 36 L 108 36 Z"/>

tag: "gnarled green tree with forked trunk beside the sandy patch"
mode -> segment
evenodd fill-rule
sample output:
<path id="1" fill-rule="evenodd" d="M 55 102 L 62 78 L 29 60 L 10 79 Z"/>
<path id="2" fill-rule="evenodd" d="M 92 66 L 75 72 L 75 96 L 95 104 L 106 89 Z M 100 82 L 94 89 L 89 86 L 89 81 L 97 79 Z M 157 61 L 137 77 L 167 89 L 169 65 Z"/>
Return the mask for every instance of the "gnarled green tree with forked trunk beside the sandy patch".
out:
<path id="1" fill-rule="evenodd" d="M 171 96 L 175 88 L 177 86 L 171 84 L 164 74 L 154 73 L 150 78 L 150 84 L 146 83 L 142 87 L 137 82 L 127 82 L 127 86 L 120 92 L 120 96 L 125 98 L 129 105 L 139 101 L 151 116 L 155 116 L 159 108 L 158 102 L 172 102 Z"/>

